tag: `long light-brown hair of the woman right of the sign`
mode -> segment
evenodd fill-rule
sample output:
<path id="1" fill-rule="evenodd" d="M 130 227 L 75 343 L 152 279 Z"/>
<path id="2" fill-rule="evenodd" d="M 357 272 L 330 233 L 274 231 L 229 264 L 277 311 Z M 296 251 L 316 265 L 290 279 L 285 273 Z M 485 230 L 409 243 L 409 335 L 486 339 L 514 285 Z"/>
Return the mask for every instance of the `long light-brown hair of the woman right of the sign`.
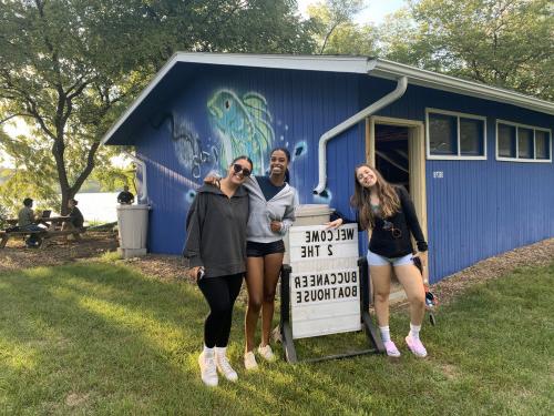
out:
<path id="1" fill-rule="evenodd" d="M 377 169 L 367 163 L 362 163 L 353 170 L 353 195 L 350 199 L 350 204 L 358 210 L 360 225 L 363 230 L 373 229 L 376 226 L 376 214 L 371 210 L 370 191 L 358 181 L 358 170 L 368 168 L 377 177 L 376 187 L 380 203 L 380 217 L 387 219 L 400 211 L 400 199 L 398 197 L 394 187 L 388 183 Z"/>

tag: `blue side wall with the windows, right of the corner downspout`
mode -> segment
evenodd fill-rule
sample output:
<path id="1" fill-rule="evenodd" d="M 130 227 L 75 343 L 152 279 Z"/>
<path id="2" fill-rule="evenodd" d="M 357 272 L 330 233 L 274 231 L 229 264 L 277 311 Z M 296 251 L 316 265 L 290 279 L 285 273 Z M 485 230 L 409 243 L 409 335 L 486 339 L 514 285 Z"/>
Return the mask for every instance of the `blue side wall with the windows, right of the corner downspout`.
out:
<path id="1" fill-rule="evenodd" d="M 394 83 L 367 79 L 361 85 L 361 104 L 367 105 Z M 424 121 L 425 108 L 486 116 L 488 146 L 488 160 L 427 161 L 431 280 L 437 282 L 482 258 L 554 236 L 553 163 L 495 160 L 496 119 L 552 130 L 554 118 L 414 85 L 379 115 Z M 433 177 L 438 171 L 443 177 Z"/>

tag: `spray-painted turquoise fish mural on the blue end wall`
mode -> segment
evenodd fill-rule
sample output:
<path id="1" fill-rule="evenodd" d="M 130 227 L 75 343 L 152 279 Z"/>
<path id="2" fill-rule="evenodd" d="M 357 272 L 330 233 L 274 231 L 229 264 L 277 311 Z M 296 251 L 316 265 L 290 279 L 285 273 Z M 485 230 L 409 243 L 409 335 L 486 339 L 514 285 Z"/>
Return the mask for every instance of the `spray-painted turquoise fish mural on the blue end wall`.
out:
<path id="1" fill-rule="evenodd" d="M 192 114 L 167 113 L 162 122 L 171 131 L 175 156 L 183 168 L 179 182 L 187 186 L 186 203 L 194 200 L 205 175 L 226 172 L 238 155 L 248 155 L 254 163 L 253 173 L 264 175 L 268 173 L 271 149 L 288 149 L 295 165 L 308 153 L 306 138 L 290 136 L 288 123 L 280 119 L 274 121 L 266 98 L 258 92 L 215 90 L 206 100 L 206 115 L 208 131 L 198 129 L 191 121 Z M 324 199 L 328 202 L 330 195 Z M 322 202 L 320 200 L 317 202 Z"/>

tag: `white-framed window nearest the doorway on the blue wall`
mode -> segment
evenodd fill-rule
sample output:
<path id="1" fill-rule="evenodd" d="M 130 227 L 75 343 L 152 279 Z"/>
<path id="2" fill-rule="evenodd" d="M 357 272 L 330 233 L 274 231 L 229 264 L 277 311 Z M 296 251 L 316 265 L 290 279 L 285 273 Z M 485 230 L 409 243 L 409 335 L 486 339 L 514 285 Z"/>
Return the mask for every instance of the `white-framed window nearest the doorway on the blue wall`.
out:
<path id="1" fill-rule="evenodd" d="M 428 159 L 486 159 L 484 116 L 428 109 Z"/>

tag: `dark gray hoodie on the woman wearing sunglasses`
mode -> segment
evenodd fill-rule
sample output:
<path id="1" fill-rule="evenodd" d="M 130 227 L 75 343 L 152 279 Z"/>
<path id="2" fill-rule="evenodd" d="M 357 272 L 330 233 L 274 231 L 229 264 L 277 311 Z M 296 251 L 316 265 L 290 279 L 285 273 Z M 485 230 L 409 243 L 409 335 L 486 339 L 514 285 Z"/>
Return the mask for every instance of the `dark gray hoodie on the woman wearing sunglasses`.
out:
<path id="1" fill-rule="evenodd" d="M 206 277 L 244 273 L 248 194 L 239 186 L 229 199 L 218 187 L 198 189 L 186 216 L 183 256 L 204 266 Z"/>

